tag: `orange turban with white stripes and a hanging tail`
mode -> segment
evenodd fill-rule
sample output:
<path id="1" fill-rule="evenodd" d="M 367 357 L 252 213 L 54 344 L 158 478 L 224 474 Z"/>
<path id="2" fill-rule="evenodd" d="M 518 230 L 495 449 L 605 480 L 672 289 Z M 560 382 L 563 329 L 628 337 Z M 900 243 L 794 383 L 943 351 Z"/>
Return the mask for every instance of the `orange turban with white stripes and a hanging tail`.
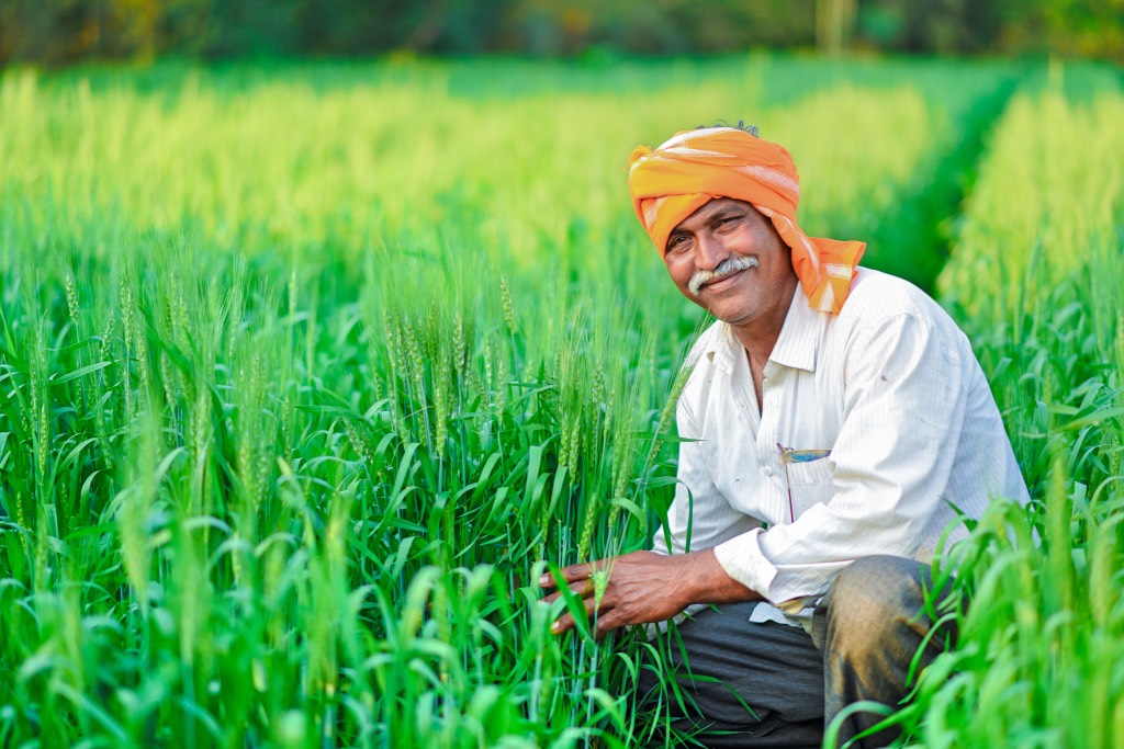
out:
<path id="1" fill-rule="evenodd" d="M 679 133 L 655 150 L 640 146 L 628 163 L 636 217 L 661 256 L 672 229 L 711 198 L 744 200 L 769 217 L 792 249 L 792 267 L 810 305 L 839 314 L 867 245 L 800 230 L 800 181 L 781 146 L 738 128 L 704 128 Z"/>

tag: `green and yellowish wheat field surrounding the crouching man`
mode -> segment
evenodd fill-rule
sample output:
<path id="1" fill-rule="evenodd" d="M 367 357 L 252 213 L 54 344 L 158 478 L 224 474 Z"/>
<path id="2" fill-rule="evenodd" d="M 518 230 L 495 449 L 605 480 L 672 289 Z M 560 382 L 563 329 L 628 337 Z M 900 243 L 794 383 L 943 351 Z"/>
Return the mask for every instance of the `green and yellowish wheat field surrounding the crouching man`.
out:
<path id="1" fill-rule="evenodd" d="M 659 732 L 665 654 L 532 582 L 661 522 L 706 320 L 626 159 L 742 118 L 955 316 L 1033 496 L 890 720 L 1124 745 L 1124 76 L 754 54 L 0 72 L 0 748 Z"/>

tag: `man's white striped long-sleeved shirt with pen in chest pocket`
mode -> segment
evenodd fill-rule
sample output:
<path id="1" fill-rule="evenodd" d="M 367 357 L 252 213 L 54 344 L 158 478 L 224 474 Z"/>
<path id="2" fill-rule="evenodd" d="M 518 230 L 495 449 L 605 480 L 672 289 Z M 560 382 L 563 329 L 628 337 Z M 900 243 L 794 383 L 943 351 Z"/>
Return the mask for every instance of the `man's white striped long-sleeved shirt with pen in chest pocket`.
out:
<path id="1" fill-rule="evenodd" d="M 994 496 L 1028 499 L 968 338 L 906 281 L 859 268 L 839 316 L 809 308 L 798 285 L 761 411 L 726 323 L 703 334 L 692 364 L 677 418 L 697 441 L 680 445 L 655 550 L 715 547 L 731 577 L 789 613 L 859 557 L 927 561 L 953 506 L 979 518 Z M 782 462 L 778 444 L 831 454 Z M 786 621 L 758 609 L 754 620 Z"/>

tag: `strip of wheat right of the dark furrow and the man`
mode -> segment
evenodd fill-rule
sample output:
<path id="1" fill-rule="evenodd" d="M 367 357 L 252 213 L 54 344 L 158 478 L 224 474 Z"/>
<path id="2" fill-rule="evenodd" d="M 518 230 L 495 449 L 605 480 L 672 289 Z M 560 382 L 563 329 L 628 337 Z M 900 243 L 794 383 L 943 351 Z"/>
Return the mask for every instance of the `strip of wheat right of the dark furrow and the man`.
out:
<path id="1" fill-rule="evenodd" d="M 1027 85 L 941 276 L 1034 501 L 995 504 L 950 555 L 960 642 L 899 716 L 924 746 L 1124 740 L 1122 117 L 1113 76 Z"/>

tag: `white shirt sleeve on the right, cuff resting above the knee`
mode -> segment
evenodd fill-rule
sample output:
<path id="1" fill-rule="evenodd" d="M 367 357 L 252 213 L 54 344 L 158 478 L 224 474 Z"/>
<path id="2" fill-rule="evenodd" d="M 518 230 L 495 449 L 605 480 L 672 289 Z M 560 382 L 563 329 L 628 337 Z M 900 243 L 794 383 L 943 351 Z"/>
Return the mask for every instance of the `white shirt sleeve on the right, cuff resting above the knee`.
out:
<path id="1" fill-rule="evenodd" d="M 843 422 L 825 458 L 832 497 L 791 524 L 718 546 L 731 577 L 780 603 L 826 592 L 859 557 L 916 556 L 948 485 L 968 400 L 945 336 L 913 314 L 851 336 Z"/>

